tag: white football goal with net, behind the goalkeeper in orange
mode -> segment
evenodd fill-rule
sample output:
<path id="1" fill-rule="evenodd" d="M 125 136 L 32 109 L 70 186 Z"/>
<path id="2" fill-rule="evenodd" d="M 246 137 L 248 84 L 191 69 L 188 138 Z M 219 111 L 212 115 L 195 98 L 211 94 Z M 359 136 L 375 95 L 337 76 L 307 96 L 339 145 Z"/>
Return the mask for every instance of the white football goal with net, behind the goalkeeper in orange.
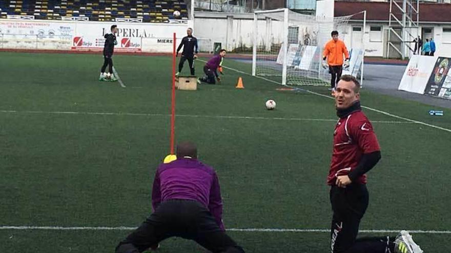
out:
<path id="1" fill-rule="evenodd" d="M 355 15 L 363 20 L 362 13 Z M 255 12 L 252 74 L 283 85 L 328 85 L 331 75 L 321 65 L 322 53 L 336 30 L 351 56 L 350 67 L 343 69 L 343 75 L 361 76 L 364 22 L 353 21 L 349 26 L 355 15 L 325 18 L 288 9 Z M 353 32 L 359 27 L 360 36 Z"/>

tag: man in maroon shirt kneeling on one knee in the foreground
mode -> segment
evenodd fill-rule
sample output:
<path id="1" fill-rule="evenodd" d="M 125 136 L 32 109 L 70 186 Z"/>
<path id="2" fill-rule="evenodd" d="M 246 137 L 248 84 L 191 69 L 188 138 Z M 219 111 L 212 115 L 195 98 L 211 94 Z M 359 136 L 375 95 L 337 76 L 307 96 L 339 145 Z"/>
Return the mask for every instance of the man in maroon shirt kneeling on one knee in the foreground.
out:
<path id="1" fill-rule="evenodd" d="M 344 75 L 337 84 L 335 106 L 339 120 L 327 184 L 331 186 L 331 253 L 421 253 L 406 231 L 396 238 L 357 238 L 368 206 L 366 175 L 381 158 L 371 122 L 360 107 L 360 84 Z"/>

